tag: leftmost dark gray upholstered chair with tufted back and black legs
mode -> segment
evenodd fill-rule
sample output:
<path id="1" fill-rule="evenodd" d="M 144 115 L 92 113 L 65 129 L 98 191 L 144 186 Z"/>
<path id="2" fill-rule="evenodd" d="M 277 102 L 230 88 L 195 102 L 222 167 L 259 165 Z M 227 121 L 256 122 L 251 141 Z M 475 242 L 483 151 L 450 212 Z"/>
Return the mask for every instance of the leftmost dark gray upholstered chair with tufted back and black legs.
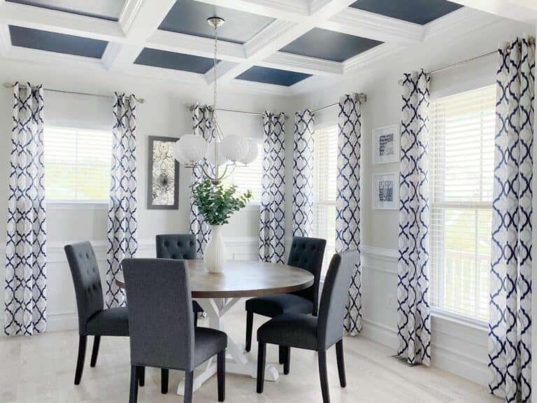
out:
<path id="1" fill-rule="evenodd" d="M 93 336 L 93 351 L 90 365 L 95 367 L 99 354 L 101 336 L 129 336 L 127 308 L 103 309 L 103 288 L 99 267 L 90 242 L 73 243 L 64 247 L 73 284 L 75 285 L 78 309 L 78 360 L 75 385 L 80 384 L 86 356 L 87 337 Z M 143 385 L 143 378 L 141 378 Z"/>

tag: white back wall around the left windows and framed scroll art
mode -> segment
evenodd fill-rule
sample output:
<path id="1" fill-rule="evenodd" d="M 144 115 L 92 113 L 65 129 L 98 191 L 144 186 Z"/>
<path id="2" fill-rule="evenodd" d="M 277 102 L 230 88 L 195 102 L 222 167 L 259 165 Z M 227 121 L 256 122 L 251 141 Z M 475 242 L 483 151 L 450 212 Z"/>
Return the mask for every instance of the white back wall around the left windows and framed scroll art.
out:
<path id="1" fill-rule="evenodd" d="M 129 78 L 100 70 L 67 69 L 56 65 L 33 65 L 26 62 L 0 61 L 0 83 L 30 81 L 45 87 L 100 94 L 113 91 L 134 93 L 145 98 L 138 106 L 138 239 L 141 256 L 154 255 L 156 234 L 188 232 L 189 203 L 187 186 L 189 170 L 180 169 L 180 200 L 178 211 L 148 210 L 146 202 L 148 136 L 179 137 L 192 131 L 192 115 L 185 107 L 194 101 L 212 103 L 211 87 Z M 7 212 L 8 163 L 10 153 L 12 90 L 0 87 L 0 214 Z M 223 108 L 262 112 L 266 109 L 286 111 L 285 97 L 237 92 L 222 86 L 218 104 Z M 45 123 L 110 129 L 112 99 L 78 94 L 45 91 Z M 220 112 L 219 120 L 225 134 L 237 133 L 262 138 L 262 118 Z M 48 316 L 50 330 L 76 326 L 75 299 L 71 274 L 66 265 L 63 246 L 73 241 L 94 243 L 104 278 L 106 256 L 106 206 L 62 206 L 48 204 Z M 6 227 L 0 220 L 0 283 L 3 284 Z M 224 227 L 231 254 L 237 258 L 257 257 L 259 207 L 248 206 L 236 213 Z M 0 287 L 3 303 L 3 286 Z M 3 308 L 2 308 L 3 313 Z M 0 315 L 0 318 L 3 315 Z"/>

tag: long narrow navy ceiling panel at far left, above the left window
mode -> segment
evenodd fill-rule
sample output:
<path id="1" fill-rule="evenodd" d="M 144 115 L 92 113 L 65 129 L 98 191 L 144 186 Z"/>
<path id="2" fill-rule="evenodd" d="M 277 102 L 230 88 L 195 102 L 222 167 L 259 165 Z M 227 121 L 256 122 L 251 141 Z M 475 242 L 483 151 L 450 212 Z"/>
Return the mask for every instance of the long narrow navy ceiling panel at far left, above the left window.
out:
<path id="1" fill-rule="evenodd" d="M 100 59 L 108 42 L 80 36 L 57 34 L 23 27 L 9 26 L 11 44 L 49 52 L 66 53 Z"/>

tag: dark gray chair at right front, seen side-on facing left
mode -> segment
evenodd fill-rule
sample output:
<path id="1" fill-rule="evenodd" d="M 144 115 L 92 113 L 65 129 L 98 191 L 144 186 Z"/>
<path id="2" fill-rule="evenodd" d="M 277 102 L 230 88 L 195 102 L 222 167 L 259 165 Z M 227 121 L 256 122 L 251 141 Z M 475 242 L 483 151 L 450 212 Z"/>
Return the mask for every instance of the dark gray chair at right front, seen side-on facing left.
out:
<path id="1" fill-rule="evenodd" d="M 278 344 L 285 349 L 284 374 L 289 374 L 291 347 L 318 352 L 322 401 L 330 402 L 327 376 L 327 350 L 336 344 L 339 383 L 347 386 L 343 360 L 343 318 L 348 301 L 348 289 L 358 259 L 357 250 L 339 253 L 332 257 L 319 309 L 319 316 L 284 313 L 257 330 L 257 393 L 263 393 L 265 378 L 266 344 Z"/>

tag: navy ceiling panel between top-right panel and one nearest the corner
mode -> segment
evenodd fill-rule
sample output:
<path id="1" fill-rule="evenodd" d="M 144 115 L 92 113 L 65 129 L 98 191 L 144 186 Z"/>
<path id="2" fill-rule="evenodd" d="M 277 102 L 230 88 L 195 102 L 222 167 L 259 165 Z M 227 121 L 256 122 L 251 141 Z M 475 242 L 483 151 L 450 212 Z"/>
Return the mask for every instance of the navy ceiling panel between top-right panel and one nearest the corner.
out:
<path id="1" fill-rule="evenodd" d="M 373 39 L 361 38 L 360 36 L 313 28 L 300 38 L 289 43 L 289 45 L 281 48 L 280 51 L 332 60 L 333 62 L 344 62 L 346 59 L 374 48 L 381 43 L 373 41 Z"/>

